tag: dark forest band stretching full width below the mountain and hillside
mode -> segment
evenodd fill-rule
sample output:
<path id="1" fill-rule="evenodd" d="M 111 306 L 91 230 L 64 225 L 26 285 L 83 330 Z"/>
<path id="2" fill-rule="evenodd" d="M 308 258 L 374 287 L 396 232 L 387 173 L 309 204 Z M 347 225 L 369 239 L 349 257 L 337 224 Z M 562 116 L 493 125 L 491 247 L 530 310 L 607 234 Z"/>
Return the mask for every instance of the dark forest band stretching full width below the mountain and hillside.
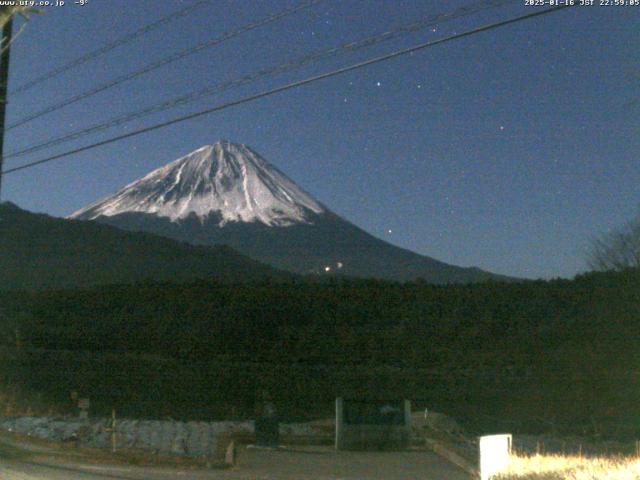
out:
<path id="1" fill-rule="evenodd" d="M 0 341 L 89 364 L 92 355 L 128 358 L 131 375 L 107 368 L 91 388 L 106 395 L 110 378 L 114 392 L 124 385 L 143 402 L 149 385 L 140 379 L 156 378 L 169 403 L 163 409 L 174 415 L 214 397 L 249 412 L 252 392 L 269 384 L 293 413 L 330 408 L 344 392 L 395 392 L 471 423 L 494 415 L 534 430 L 545 421 L 613 429 L 640 416 L 632 345 L 640 334 L 638 285 L 640 271 L 627 269 L 451 286 L 334 278 L 12 292 L 0 294 Z M 197 400 L 176 397 L 171 381 L 157 379 L 158 359 L 173 365 L 173 383 L 201 393 Z M 171 405 L 171 398 L 181 400 Z"/>

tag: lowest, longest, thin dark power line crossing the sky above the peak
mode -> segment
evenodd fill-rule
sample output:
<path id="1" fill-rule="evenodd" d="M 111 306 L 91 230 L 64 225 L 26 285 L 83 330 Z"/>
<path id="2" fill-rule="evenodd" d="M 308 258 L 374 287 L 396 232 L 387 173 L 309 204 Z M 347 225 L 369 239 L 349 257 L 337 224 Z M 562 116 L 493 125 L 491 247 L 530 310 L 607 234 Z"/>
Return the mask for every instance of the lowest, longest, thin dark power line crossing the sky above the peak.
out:
<path id="1" fill-rule="evenodd" d="M 306 79 L 303 79 L 303 80 L 298 80 L 298 81 L 295 81 L 295 82 L 292 82 L 292 83 L 288 83 L 286 85 L 283 85 L 283 86 L 280 86 L 280 87 L 276 87 L 276 88 L 273 88 L 273 89 L 270 89 L 270 90 L 266 90 L 266 91 L 263 91 L 263 92 L 260 92 L 260 93 L 254 94 L 254 95 L 249 95 L 249 96 L 240 98 L 238 100 L 234 100 L 234 101 L 231 101 L 231 102 L 227 102 L 227 103 L 223 103 L 223 104 L 220 104 L 220 105 L 216 105 L 216 106 L 208 108 L 206 110 L 201 110 L 199 112 L 191 113 L 189 115 L 185 115 L 185 116 L 182 116 L 182 117 L 174 118 L 173 120 L 169 120 L 169 121 L 166 121 L 166 122 L 158 123 L 158 124 L 152 125 L 150 127 L 141 128 L 141 129 L 136 130 L 134 132 L 129 132 L 129 133 L 125 133 L 125 134 L 122 134 L 122 135 L 118 135 L 118 136 L 109 138 L 107 140 L 102 140 L 100 142 L 96 142 L 96 143 L 93 143 L 93 144 L 90 144 L 90 145 L 86 145 L 84 147 L 75 148 L 73 150 L 69 150 L 69 151 L 64 152 L 64 153 L 60 153 L 60 154 L 53 155 L 53 156 L 50 156 L 50 157 L 47 157 L 47 158 L 43 158 L 41 160 L 30 162 L 30 163 L 27 163 L 25 165 L 21 165 L 19 167 L 14 167 L 14 168 L 11 168 L 11 169 L 5 171 L 4 174 L 6 175 L 6 174 L 17 172 L 17 171 L 20 171 L 20 170 L 25 170 L 27 168 L 35 167 L 36 165 L 42 165 L 44 163 L 48 163 L 48 162 L 52 162 L 54 160 L 58 160 L 58 159 L 61 159 L 61 158 L 64 158 L 64 157 L 68 157 L 70 155 L 75 155 L 77 153 L 81 153 L 81 152 L 85 152 L 87 150 L 92 150 L 94 148 L 102 147 L 102 146 L 108 145 L 110 143 L 114 143 L 114 142 L 118 142 L 120 140 L 124 140 L 124 139 L 127 139 L 127 138 L 135 137 L 135 136 L 141 135 L 143 133 L 148 133 L 148 132 L 151 132 L 151 131 L 154 131 L 154 130 L 158 130 L 158 129 L 161 129 L 161 128 L 164 128 L 164 127 L 168 127 L 168 126 L 174 125 L 176 123 L 181 123 L 181 122 L 184 122 L 184 121 L 187 121 L 187 120 L 191 120 L 191 119 L 194 119 L 194 118 L 198 118 L 198 117 L 201 117 L 201 116 L 204 116 L 204 115 L 208 115 L 208 114 L 211 114 L 211 113 L 214 113 L 214 112 L 225 110 L 227 108 L 231 108 L 231 107 L 235 107 L 235 106 L 238 106 L 238 105 L 242 105 L 244 103 L 252 102 L 254 100 L 258 100 L 258 99 L 261 99 L 261 98 L 270 97 L 271 95 L 275 95 L 276 93 L 280 93 L 280 92 L 291 90 L 291 89 L 294 89 L 294 88 L 297 88 L 297 87 L 301 87 L 303 85 L 307 85 L 307 84 L 310 84 L 310 83 L 313 83 L 313 82 L 317 82 L 319 80 L 324 80 L 324 79 L 327 79 L 327 78 L 335 77 L 335 76 L 342 75 L 342 74 L 347 73 L 347 72 L 351 72 L 353 70 L 357 70 L 357 69 L 360 69 L 360 68 L 368 67 L 370 65 L 375 65 L 375 64 L 387 61 L 387 60 L 391 60 L 391 59 L 396 58 L 396 57 L 400 57 L 400 56 L 403 56 L 403 55 L 408 55 L 410 53 L 417 52 L 419 50 L 423 50 L 423 49 L 428 48 L 428 47 L 432 47 L 432 46 L 439 45 L 439 44 L 442 44 L 442 43 L 450 42 L 452 40 L 458 40 L 460 38 L 465 38 L 465 37 L 468 37 L 468 36 L 471 36 L 471 35 L 475 35 L 477 33 L 486 32 L 488 30 L 493 30 L 495 28 L 503 27 L 503 26 L 506 26 L 506 25 L 511 25 L 511 24 L 514 24 L 514 23 L 517 23 L 517 22 L 521 22 L 523 20 L 528 20 L 530 18 L 546 15 L 548 13 L 552 13 L 552 12 L 556 12 L 556 11 L 559 11 L 559 10 L 563 10 L 563 9 L 569 8 L 571 6 L 573 6 L 573 5 L 561 5 L 561 6 L 558 6 L 558 7 L 553 7 L 553 8 L 548 8 L 548 9 L 545 9 L 545 10 L 540 10 L 540 11 L 528 13 L 526 15 L 521 15 L 521 16 L 518 16 L 518 17 L 511 18 L 509 20 L 502 20 L 502 21 L 499 21 L 499 22 L 490 23 L 490 24 L 484 25 L 482 27 L 477 27 L 477 28 L 474 28 L 472 30 L 467 30 L 466 32 L 453 34 L 453 35 L 450 35 L 448 37 L 440 38 L 438 40 L 431 40 L 431 41 L 428 41 L 428 42 L 425 42 L 425 43 L 414 45 L 413 47 L 405 48 L 405 49 L 402 49 L 402 50 L 397 50 L 397 51 L 392 52 L 392 53 L 388 53 L 388 54 L 385 54 L 385 55 L 382 55 L 382 56 L 379 56 L 379 57 L 375 57 L 375 58 L 372 58 L 372 59 L 369 59 L 369 60 L 364 60 L 362 62 L 358 62 L 358 63 L 352 64 L 352 65 L 349 65 L 347 67 L 339 68 L 337 70 L 332 70 L 332 71 L 326 72 L 326 73 L 321 73 L 319 75 L 315 75 L 315 76 L 312 76 L 312 77 L 309 77 L 309 78 L 306 78 Z"/>

